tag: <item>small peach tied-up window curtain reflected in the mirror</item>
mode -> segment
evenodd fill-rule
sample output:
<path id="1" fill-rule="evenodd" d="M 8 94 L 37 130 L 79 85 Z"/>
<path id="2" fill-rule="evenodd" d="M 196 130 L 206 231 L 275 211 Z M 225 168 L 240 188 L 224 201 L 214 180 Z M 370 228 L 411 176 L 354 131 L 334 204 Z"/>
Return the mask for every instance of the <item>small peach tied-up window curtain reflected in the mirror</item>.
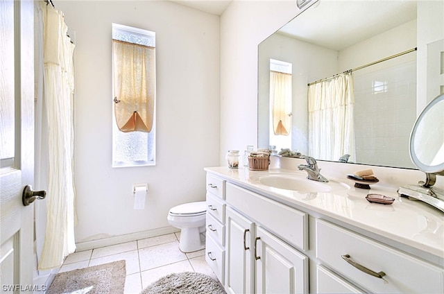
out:
<path id="1" fill-rule="evenodd" d="M 291 74 L 270 71 L 271 119 L 275 135 L 291 132 Z"/>

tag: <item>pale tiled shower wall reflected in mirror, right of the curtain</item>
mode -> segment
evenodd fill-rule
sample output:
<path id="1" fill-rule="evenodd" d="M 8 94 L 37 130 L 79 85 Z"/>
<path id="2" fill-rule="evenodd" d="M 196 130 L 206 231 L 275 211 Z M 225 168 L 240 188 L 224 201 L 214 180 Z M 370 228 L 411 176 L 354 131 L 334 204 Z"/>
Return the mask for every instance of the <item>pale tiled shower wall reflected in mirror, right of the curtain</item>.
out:
<path id="1" fill-rule="evenodd" d="M 357 162 L 413 168 L 405 163 L 411 162 L 409 136 L 416 119 L 416 61 L 354 75 Z"/>

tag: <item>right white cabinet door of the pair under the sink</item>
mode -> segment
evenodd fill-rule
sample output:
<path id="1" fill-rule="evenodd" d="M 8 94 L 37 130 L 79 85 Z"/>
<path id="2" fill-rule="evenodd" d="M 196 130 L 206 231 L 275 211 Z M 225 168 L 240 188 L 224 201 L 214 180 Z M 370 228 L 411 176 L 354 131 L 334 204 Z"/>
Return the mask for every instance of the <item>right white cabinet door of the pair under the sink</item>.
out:
<path id="1" fill-rule="evenodd" d="M 256 228 L 256 293 L 308 293 L 308 258 Z"/>

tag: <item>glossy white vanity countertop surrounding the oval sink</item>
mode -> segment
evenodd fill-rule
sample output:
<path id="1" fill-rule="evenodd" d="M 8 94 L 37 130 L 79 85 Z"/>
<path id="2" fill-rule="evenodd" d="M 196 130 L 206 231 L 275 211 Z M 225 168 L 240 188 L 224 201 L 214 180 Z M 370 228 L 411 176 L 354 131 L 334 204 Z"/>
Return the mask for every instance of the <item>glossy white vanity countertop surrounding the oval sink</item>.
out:
<path id="1" fill-rule="evenodd" d="M 348 223 L 378 236 L 444 258 L 444 212 L 422 202 L 398 196 L 396 189 L 382 184 L 372 184 L 370 190 L 354 187 L 354 182 L 332 179 L 348 184 L 350 189 L 339 192 L 298 192 L 258 184 L 255 176 L 269 173 L 291 173 L 306 178 L 302 171 L 283 170 L 250 171 L 248 168 L 227 166 L 204 168 L 205 171 L 225 178 L 228 182 L 249 187 L 264 196 L 282 201 L 299 209 L 305 208 L 316 213 Z M 308 180 L 307 180 L 308 181 Z M 392 205 L 370 203 L 368 193 L 379 193 L 395 198 Z M 438 262 L 438 263 L 441 263 Z"/>

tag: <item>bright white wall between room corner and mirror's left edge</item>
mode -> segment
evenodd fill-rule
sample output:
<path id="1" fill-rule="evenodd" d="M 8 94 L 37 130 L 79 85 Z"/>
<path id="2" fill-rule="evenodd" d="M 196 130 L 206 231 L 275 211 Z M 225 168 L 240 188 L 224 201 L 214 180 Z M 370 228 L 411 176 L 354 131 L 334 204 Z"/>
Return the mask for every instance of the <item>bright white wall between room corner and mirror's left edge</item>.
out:
<path id="1" fill-rule="evenodd" d="M 223 12 L 221 165 L 226 150 L 257 148 L 257 45 L 297 14 L 296 1 L 233 1 Z"/>

